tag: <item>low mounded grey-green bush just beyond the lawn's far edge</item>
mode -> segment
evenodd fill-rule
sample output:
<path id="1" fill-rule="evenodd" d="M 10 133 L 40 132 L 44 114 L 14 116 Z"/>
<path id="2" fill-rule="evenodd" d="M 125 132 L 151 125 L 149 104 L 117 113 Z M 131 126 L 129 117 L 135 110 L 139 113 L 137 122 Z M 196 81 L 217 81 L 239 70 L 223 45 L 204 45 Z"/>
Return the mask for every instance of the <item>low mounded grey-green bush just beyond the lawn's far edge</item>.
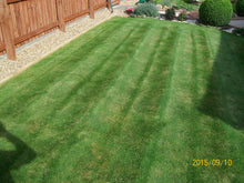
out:
<path id="1" fill-rule="evenodd" d="M 159 10 L 153 3 L 142 3 L 134 9 L 136 16 L 157 17 Z"/>

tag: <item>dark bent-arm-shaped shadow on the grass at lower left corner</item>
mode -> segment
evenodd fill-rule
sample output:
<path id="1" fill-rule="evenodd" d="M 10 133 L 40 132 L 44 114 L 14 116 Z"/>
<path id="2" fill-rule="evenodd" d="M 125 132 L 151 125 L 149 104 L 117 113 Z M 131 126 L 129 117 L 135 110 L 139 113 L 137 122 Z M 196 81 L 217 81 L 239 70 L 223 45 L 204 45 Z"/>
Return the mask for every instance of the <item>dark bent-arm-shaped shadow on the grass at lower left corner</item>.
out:
<path id="1" fill-rule="evenodd" d="M 8 140 L 14 145 L 14 150 L 12 151 L 0 149 L 0 182 L 12 183 L 14 181 L 11 176 L 11 171 L 30 163 L 37 154 L 24 142 L 8 132 L 1 121 L 0 138 Z"/>

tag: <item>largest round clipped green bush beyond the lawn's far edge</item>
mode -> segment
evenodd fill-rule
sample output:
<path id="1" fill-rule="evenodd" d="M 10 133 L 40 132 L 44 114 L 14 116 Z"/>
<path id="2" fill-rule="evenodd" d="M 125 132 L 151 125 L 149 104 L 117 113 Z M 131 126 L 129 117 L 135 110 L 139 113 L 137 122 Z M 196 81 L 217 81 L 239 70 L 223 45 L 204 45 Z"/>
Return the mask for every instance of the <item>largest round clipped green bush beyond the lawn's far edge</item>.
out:
<path id="1" fill-rule="evenodd" d="M 205 0 L 200 7 L 200 20 L 204 24 L 225 26 L 232 19 L 230 0 Z"/>

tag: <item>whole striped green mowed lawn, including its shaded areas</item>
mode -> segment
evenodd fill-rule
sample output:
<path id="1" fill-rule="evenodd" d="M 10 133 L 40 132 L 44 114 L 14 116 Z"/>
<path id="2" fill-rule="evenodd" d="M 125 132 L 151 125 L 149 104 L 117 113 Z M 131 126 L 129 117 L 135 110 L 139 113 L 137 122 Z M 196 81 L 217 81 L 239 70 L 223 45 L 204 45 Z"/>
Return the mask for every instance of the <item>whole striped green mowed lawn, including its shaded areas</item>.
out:
<path id="1" fill-rule="evenodd" d="M 213 28 L 100 24 L 1 85 L 0 182 L 244 182 L 243 50 Z"/>

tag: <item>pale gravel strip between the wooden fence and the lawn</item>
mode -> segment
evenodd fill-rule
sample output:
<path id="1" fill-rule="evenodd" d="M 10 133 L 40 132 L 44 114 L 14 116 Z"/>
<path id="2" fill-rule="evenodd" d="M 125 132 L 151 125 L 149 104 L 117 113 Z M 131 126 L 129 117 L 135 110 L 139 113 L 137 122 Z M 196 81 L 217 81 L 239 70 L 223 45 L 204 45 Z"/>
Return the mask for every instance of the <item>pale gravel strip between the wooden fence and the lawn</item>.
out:
<path id="1" fill-rule="evenodd" d="M 121 3 L 133 3 L 133 0 L 122 1 Z M 12 77 L 18 75 L 33 63 L 39 62 L 48 54 L 77 39 L 82 33 L 113 17 L 126 17 L 126 14 L 116 8 L 114 9 L 113 13 L 111 13 L 105 8 L 95 12 L 95 19 L 84 17 L 67 24 L 67 32 L 54 30 L 43 37 L 21 45 L 17 49 L 16 61 L 7 59 L 6 54 L 0 55 L 0 84 Z"/>

